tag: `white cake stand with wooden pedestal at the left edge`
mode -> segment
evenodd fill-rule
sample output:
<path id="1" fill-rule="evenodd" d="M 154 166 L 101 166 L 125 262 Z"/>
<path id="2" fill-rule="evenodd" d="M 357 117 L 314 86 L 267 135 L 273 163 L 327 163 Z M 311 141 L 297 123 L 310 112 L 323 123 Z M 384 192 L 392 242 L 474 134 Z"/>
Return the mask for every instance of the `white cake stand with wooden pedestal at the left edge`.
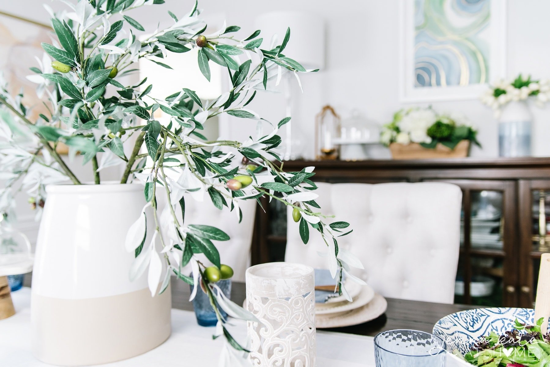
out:
<path id="1" fill-rule="evenodd" d="M 30 243 L 28 240 L 25 243 L 26 252 L 0 254 L 0 320 L 15 315 L 8 275 L 25 274 L 32 270 L 34 259 Z"/>

